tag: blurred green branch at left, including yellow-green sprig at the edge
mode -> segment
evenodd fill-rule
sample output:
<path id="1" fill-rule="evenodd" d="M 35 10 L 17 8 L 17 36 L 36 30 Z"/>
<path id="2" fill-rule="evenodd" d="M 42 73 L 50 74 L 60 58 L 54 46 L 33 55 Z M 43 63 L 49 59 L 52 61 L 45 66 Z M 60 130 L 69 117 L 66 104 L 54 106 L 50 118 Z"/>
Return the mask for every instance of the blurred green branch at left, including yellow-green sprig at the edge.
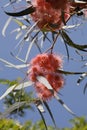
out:
<path id="1" fill-rule="evenodd" d="M 15 84 L 18 84 L 20 81 L 20 79 L 16 79 L 16 80 L 7 80 L 7 79 L 0 79 L 0 84 L 4 84 L 6 86 L 11 87 Z M 21 90 L 13 90 L 10 94 L 8 94 L 5 98 L 3 103 L 5 104 L 5 108 L 8 109 L 10 108 L 13 104 L 17 103 L 17 102 L 23 102 L 23 101 L 30 101 L 32 99 L 32 92 L 25 92 L 24 89 Z M 13 111 L 11 110 L 11 112 L 7 113 L 13 115 L 13 114 L 18 114 L 19 116 L 24 116 L 25 109 L 31 109 L 33 110 L 32 106 L 28 103 L 28 104 L 24 104 L 21 107 L 19 107 L 18 109 L 14 108 Z"/>

